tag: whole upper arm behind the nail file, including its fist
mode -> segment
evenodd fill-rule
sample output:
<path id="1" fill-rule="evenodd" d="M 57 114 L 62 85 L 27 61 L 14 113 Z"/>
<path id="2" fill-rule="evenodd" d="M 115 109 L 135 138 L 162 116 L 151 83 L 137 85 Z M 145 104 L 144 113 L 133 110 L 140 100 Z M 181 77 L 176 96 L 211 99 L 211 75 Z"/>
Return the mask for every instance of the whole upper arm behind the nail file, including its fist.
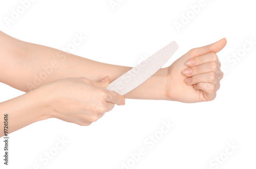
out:
<path id="1" fill-rule="evenodd" d="M 226 39 L 221 39 L 190 50 L 124 97 L 186 103 L 215 99 L 223 77 L 216 53 L 225 45 Z M 109 76 L 112 82 L 132 68 L 96 62 L 51 47 L 20 41 L 3 32 L 0 32 L 0 53 L 3 60 L 0 62 L 0 81 L 23 91 L 70 77 L 99 81 Z M 195 60 L 196 63 L 186 64 L 188 60 Z M 189 67 L 194 69 L 193 73 L 185 74 L 183 70 Z M 191 82 L 185 80 L 190 78 Z"/>

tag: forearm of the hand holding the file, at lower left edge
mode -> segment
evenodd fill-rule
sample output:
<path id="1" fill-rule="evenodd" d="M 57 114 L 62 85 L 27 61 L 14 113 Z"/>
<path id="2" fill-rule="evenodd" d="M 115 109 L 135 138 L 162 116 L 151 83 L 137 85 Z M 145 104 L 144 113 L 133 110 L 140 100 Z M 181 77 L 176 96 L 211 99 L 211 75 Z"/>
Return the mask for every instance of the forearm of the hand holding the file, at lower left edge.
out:
<path id="1" fill-rule="evenodd" d="M 39 120 L 49 118 L 47 104 L 35 99 L 34 91 L 0 103 L 0 137 L 4 136 L 4 115 L 8 114 L 8 134 Z"/>

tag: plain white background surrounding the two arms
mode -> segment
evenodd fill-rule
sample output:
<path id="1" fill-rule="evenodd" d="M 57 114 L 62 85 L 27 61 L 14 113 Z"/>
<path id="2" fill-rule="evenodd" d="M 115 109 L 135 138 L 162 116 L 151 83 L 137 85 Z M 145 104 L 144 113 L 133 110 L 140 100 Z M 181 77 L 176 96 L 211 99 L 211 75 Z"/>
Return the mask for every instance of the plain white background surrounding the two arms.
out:
<path id="1" fill-rule="evenodd" d="M 22 4 L 1 0 L 0 30 L 60 50 L 75 34 L 82 34 L 87 39 L 73 54 L 126 66 L 135 66 L 141 56 L 150 56 L 173 40 L 180 47 L 165 66 L 194 47 L 226 37 L 227 45 L 218 56 L 228 70 L 217 98 L 196 104 L 127 99 L 125 106 L 116 106 L 89 127 L 47 119 L 9 135 L 8 167 L 0 141 L 0 168 L 121 168 L 122 162 L 130 162 L 129 168 L 255 168 L 256 45 L 239 60 L 230 58 L 243 51 L 246 39 L 256 41 L 253 1 L 205 0 L 195 16 L 190 6 L 199 0 L 117 2 L 113 10 L 109 0 L 37 0 L 8 27 L 4 18 L 11 18 L 12 9 L 17 11 Z M 187 13 L 191 19 L 178 31 L 174 23 Z M 1 102 L 23 94 L 5 84 L 0 91 Z M 144 140 L 159 133 L 168 120 L 174 127 L 150 149 Z M 45 152 L 55 153 L 62 137 L 69 142 L 47 164 L 41 161 Z M 230 155 L 228 143 L 238 147 Z M 146 153 L 133 164 L 130 154 L 140 148 Z M 222 160 L 218 167 L 210 165 L 215 157 Z"/>

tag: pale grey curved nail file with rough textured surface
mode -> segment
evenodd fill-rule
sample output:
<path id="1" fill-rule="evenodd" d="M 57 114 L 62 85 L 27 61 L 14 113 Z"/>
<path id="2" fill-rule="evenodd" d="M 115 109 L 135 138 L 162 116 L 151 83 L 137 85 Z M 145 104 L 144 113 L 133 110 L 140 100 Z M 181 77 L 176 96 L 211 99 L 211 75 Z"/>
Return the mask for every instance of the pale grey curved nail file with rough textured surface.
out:
<path id="1" fill-rule="evenodd" d="M 110 83 L 106 89 L 121 95 L 135 89 L 148 78 L 154 75 L 178 49 L 178 44 L 173 41 L 160 51 L 145 59 L 143 62 L 127 71 L 125 74 Z"/>

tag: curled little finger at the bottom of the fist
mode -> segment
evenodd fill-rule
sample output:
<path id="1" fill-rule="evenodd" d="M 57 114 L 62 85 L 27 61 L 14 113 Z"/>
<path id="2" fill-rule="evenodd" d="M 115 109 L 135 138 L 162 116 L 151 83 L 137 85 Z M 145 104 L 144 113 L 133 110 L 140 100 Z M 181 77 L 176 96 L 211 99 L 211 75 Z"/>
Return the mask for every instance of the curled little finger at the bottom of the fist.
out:
<path id="1" fill-rule="evenodd" d="M 212 83 L 200 82 L 200 83 L 194 85 L 194 88 L 208 93 L 208 94 L 201 93 L 201 94 L 203 94 L 202 98 L 205 98 L 205 100 L 214 100 L 216 97 L 216 91 L 217 91 L 216 86 Z"/>

